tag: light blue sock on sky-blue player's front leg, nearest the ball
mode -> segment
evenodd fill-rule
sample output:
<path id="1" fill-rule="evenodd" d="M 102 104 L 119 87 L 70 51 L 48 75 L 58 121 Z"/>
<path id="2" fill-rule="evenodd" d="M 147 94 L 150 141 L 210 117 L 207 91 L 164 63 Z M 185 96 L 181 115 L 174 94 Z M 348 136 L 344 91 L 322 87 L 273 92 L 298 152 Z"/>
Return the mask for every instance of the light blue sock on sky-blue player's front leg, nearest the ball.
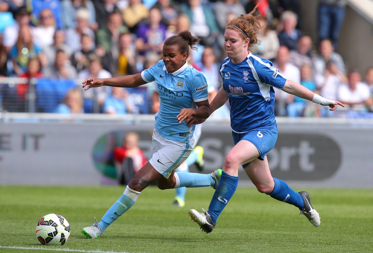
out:
<path id="1" fill-rule="evenodd" d="M 122 196 L 106 211 L 98 226 L 101 228 L 101 233 L 105 231 L 120 215 L 124 214 L 133 204 L 135 204 L 140 192 L 132 190 L 128 187 L 124 190 Z"/>

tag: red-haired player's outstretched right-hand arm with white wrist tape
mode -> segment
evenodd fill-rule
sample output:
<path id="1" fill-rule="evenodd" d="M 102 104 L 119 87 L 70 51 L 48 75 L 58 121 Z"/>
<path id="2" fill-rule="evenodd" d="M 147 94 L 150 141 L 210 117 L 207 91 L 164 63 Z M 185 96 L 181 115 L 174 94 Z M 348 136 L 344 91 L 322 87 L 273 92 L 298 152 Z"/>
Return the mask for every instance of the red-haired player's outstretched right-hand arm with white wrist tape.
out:
<path id="1" fill-rule="evenodd" d="M 330 107 L 329 111 L 334 111 L 335 109 L 337 109 L 337 105 L 345 107 L 344 104 L 338 102 L 337 100 L 327 99 L 325 97 L 317 95 L 316 93 L 312 92 L 311 90 L 308 90 L 301 84 L 288 79 L 286 80 L 286 83 L 283 86 L 282 90 L 297 97 L 310 100 L 319 105 L 327 105 Z"/>

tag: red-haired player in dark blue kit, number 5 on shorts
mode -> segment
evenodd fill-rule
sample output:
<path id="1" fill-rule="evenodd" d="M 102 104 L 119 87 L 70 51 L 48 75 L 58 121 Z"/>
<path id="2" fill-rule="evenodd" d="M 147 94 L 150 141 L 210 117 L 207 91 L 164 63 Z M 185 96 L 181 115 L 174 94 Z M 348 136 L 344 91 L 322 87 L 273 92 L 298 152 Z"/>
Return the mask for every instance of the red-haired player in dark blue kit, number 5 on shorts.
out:
<path id="1" fill-rule="evenodd" d="M 256 8 L 255 8 L 256 9 Z M 255 11 L 253 10 L 253 12 Z M 231 105 L 231 128 L 235 146 L 225 157 L 219 184 L 211 199 L 209 210 L 189 210 L 189 216 L 210 233 L 223 208 L 238 185 L 238 168 L 244 167 L 256 188 L 272 198 L 297 206 L 314 226 L 320 225 L 320 216 L 310 203 L 307 192 L 295 192 L 285 182 L 274 178 L 269 170 L 266 153 L 275 145 L 277 126 L 273 113 L 273 87 L 292 95 L 336 109 L 342 103 L 323 98 L 294 81 L 285 79 L 269 60 L 250 52 L 257 44 L 255 29 L 260 29 L 252 13 L 231 20 L 224 33 L 227 58 L 220 65 L 223 87 L 210 103 L 210 113 L 224 105 Z M 188 125 L 206 119 L 187 120 Z"/>

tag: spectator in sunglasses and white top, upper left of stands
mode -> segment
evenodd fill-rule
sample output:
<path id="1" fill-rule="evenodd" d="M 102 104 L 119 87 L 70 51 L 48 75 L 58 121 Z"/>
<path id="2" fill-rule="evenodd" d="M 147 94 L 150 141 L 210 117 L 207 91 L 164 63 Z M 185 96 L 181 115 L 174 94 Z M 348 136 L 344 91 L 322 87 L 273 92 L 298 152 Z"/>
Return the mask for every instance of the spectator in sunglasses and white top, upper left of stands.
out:
<path id="1" fill-rule="evenodd" d="M 56 31 L 56 20 L 50 9 L 43 9 L 39 13 L 40 22 L 32 30 L 35 44 L 39 47 L 47 47 L 53 44 L 53 36 Z"/>

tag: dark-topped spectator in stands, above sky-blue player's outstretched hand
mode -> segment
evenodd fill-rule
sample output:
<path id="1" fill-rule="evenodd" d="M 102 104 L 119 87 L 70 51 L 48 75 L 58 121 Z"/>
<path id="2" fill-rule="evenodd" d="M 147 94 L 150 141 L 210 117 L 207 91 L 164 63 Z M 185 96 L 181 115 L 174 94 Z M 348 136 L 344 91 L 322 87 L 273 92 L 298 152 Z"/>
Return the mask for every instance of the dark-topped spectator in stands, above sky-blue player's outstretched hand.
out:
<path id="1" fill-rule="evenodd" d="M 71 55 L 71 64 L 78 72 L 88 67 L 91 56 L 97 57 L 93 49 L 94 42 L 90 36 L 83 34 L 80 39 L 80 44 L 82 45 L 81 50 Z"/>

